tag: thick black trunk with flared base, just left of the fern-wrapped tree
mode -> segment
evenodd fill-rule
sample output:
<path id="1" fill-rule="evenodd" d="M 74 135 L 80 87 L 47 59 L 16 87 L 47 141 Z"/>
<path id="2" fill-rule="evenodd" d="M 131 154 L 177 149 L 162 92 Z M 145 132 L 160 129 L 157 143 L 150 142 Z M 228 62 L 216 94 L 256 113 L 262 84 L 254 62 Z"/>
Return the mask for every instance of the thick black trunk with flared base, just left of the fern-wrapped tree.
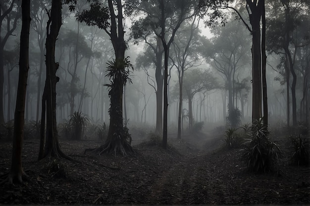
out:
<path id="1" fill-rule="evenodd" d="M 55 62 L 55 43 L 61 27 L 61 0 L 52 0 L 51 12 L 48 12 L 46 39 L 46 81 L 42 96 L 42 119 L 41 119 L 41 142 L 39 159 L 47 156 L 63 157 L 71 159 L 63 154 L 59 148 L 57 127 L 56 127 L 56 77 L 58 63 Z M 45 131 L 46 115 L 46 137 Z M 43 146 L 44 145 L 44 146 Z"/>

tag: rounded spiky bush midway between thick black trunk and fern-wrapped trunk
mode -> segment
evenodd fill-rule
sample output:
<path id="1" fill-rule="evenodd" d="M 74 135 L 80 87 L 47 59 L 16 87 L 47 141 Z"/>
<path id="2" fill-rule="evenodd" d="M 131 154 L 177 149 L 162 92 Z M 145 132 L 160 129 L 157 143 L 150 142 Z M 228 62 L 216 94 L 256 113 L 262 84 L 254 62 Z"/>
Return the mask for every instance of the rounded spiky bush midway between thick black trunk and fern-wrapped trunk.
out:
<path id="1" fill-rule="evenodd" d="M 89 123 L 89 118 L 81 111 L 75 111 L 73 115 L 70 115 L 69 128 L 71 132 L 72 140 L 81 140 L 84 134 L 84 129 Z"/>

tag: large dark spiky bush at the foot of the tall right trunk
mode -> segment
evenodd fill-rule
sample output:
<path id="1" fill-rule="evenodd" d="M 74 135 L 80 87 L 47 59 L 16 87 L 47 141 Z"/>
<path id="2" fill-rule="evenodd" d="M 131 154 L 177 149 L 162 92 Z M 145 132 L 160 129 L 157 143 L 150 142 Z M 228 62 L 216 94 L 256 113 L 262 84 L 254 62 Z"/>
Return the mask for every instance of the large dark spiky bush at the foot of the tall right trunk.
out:
<path id="1" fill-rule="evenodd" d="M 262 118 L 252 124 L 252 138 L 243 143 L 243 160 L 250 172 L 269 172 L 279 163 L 282 151 L 275 142 L 268 138 L 268 127 L 262 123 Z"/>

